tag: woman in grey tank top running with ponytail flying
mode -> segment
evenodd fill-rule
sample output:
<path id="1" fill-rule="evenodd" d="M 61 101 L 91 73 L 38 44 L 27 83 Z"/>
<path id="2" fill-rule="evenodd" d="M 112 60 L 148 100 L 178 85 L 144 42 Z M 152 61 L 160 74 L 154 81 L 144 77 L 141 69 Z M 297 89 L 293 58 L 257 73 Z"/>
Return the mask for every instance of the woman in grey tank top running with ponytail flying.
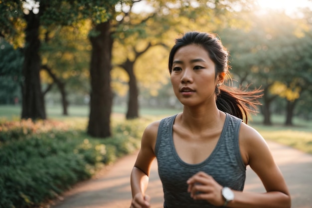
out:
<path id="1" fill-rule="evenodd" d="M 288 188 L 266 142 L 247 125 L 259 90 L 223 85 L 229 66 L 222 43 L 213 34 L 188 32 L 176 39 L 168 67 L 183 112 L 146 128 L 131 174 L 131 208 L 150 208 L 145 191 L 155 158 L 164 208 L 290 208 Z M 266 193 L 242 192 L 248 165 Z"/>

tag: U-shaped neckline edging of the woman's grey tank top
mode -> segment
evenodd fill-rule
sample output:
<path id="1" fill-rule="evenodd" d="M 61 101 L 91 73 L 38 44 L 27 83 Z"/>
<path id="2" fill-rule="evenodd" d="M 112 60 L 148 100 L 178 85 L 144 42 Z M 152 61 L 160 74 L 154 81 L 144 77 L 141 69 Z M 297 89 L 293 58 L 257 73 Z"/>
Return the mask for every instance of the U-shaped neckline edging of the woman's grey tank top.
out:
<path id="1" fill-rule="evenodd" d="M 175 118 L 176 118 L 177 115 L 178 114 L 175 114 L 174 116 L 172 116 L 172 119 L 171 119 L 171 122 L 170 122 L 170 128 L 169 128 L 169 141 L 170 141 L 171 151 L 173 153 L 173 156 L 174 156 L 175 160 L 179 164 L 181 164 L 183 166 L 186 166 L 186 167 L 201 167 L 201 166 L 204 166 L 205 164 L 207 164 L 209 161 L 211 161 L 213 159 L 213 157 L 218 152 L 218 150 L 219 150 L 219 148 L 220 148 L 220 146 L 221 146 L 221 144 L 222 144 L 222 142 L 224 140 L 226 129 L 227 129 L 228 124 L 229 124 L 229 114 L 225 112 L 226 116 L 225 116 L 225 121 L 224 121 L 224 124 L 223 124 L 223 128 L 222 128 L 220 137 L 218 139 L 218 142 L 217 142 L 216 146 L 214 147 L 213 151 L 211 152 L 211 154 L 205 160 L 203 160 L 200 163 L 196 163 L 196 164 L 189 164 L 189 163 L 184 162 L 179 157 L 179 155 L 176 152 L 176 149 L 175 149 L 175 146 L 174 146 L 174 143 L 173 143 L 173 124 L 174 124 L 174 121 L 175 121 Z"/>

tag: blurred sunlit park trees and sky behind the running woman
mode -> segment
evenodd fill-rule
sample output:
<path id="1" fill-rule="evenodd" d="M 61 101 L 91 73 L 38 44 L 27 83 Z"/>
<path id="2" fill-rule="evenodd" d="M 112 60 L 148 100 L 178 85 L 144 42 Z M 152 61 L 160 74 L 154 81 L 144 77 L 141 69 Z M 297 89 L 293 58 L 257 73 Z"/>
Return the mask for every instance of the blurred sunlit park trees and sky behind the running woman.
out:
<path id="1" fill-rule="evenodd" d="M 168 54 L 197 30 L 230 51 L 228 84 L 264 90 L 259 122 L 312 119 L 311 0 L 6 0 L 0 13 L 0 105 L 20 118 L 80 107 L 107 137 L 114 111 L 179 111 Z"/>

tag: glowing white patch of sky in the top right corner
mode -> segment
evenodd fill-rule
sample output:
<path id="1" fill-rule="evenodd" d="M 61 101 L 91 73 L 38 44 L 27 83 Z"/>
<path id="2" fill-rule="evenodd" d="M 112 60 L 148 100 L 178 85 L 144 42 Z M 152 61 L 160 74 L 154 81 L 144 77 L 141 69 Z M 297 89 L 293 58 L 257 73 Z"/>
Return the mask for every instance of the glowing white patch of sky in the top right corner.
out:
<path id="1" fill-rule="evenodd" d="M 292 13 L 300 7 L 310 7 L 312 9 L 312 0 L 257 0 L 258 4 L 266 9 L 284 9 L 287 13 Z"/>

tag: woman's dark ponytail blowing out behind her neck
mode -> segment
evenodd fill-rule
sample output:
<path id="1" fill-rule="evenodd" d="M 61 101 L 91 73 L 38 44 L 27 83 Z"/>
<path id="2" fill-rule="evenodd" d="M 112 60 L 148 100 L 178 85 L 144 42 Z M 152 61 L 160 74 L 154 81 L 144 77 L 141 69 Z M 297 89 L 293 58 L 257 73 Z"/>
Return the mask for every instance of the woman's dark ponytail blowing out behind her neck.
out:
<path id="1" fill-rule="evenodd" d="M 258 98 L 262 97 L 262 91 L 255 89 L 253 91 L 243 91 L 227 86 L 217 87 L 216 104 L 219 110 L 236 116 L 245 123 L 248 122 L 249 113 L 258 113 L 257 105 L 261 105 Z"/>

